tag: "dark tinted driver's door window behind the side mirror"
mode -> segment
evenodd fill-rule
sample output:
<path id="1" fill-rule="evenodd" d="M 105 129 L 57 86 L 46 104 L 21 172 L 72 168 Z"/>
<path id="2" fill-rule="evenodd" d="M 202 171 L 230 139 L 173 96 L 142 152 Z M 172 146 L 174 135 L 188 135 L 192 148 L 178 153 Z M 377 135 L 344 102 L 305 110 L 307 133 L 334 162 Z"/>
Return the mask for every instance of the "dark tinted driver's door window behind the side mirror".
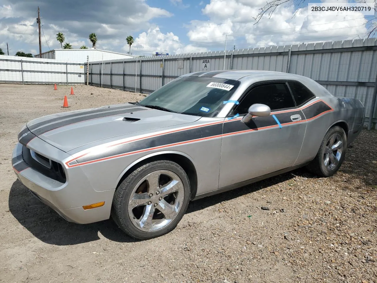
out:
<path id="1" fill-rule="evenodd" d="M 233 113 L 245 115 L 254 103 L 265 104 L 271 108 L 271 111 L 296 107 L 286 83 L 269 83 L 248 91 Z"/>

